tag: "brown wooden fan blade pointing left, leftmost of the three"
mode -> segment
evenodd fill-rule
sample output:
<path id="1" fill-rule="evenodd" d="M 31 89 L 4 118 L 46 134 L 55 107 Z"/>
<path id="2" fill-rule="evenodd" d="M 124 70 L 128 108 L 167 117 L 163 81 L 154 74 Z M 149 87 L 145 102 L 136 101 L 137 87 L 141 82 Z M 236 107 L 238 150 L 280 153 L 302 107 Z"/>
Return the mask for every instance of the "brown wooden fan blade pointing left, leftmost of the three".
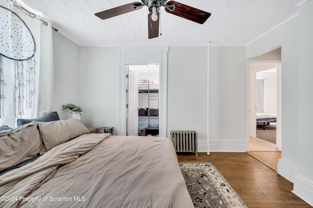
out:
<path id="1" fill-rule="evenodd" d="M 122 15 L 128 12 L 132 12 L 138 9 L 141 9 L 142 7 L 137 7 L 136 9 L 133 8 L 133 5 L 139 5 L 141 4 L 140 2 L 133 2 L 133 3 L 129 3 L 129 4 L 125 4 L 122 6 L 118 6 L 112 9 L 108 9 L 102 12 L 98 12 L 95 13 L 94 15 L 97 16 L 98 18 L 102 19 L 102 20 L 106 20 L 108 18 L 112 18 L 118 15 Z"/>

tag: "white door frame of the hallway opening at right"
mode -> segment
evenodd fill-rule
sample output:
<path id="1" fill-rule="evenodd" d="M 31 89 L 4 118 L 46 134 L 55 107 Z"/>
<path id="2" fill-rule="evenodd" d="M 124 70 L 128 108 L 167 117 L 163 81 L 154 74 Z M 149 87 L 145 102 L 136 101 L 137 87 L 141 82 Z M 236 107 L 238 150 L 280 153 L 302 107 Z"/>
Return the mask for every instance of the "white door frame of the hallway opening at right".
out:
<path id="1" fill-rule="evenodd" d="M 260 64 L 265 64 L 265 63 L 273 63 L 276 64 L 277 72 L 276 72 L 276 90 L 277 90 L 277 95 L 276 95 L 276 100 L 277 100 L 277 124 L 276 124 L 276 146 L 278 147 L 279 150 L 282 150 L 282 124 L 281 124 L 281 112 L 282 112 L 282 105 L 281 105 L 281 60 L 248 60 L 247 61 L 247 69 L 248 69 L 248 99 L 247 99 L 247 112 L 248 112 L 248 118 L 247 118 L 247 141 L 249 141 L 249 137 L 255 137 L 256 135 L 254 134 L 256 132 L 256 113 L 255 113 L 255 104 L 254 104 L 254 97 L 251 96 L 254 91 L 255 85 L 256 85 L 256 73 L 259 71 L 267 70 L 269 68 L 261 68 L 261 69 L 256 69 L 252 70 L 250 69 L 250 63 L 260 63 Z M 252 132 L 252 133 L 251 133 Z M 253 133 L 254 132 L 254 133 Z M 248 148 L 247 151 L 249 151 L 249 143 L 247 143 Z"/>

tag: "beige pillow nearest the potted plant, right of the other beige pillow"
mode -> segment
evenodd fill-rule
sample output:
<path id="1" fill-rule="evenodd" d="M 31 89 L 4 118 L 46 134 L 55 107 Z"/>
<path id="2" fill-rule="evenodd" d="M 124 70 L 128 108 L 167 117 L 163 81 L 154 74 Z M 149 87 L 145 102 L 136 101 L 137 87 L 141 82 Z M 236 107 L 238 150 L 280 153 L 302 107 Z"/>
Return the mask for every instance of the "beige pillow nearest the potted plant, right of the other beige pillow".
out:
<path id="1" fill-rule="evenodd" d="M 77 119 L 37 123 L 43 142 L 40 154 L 82 134 L 89 133 L 88 128 Z"/>

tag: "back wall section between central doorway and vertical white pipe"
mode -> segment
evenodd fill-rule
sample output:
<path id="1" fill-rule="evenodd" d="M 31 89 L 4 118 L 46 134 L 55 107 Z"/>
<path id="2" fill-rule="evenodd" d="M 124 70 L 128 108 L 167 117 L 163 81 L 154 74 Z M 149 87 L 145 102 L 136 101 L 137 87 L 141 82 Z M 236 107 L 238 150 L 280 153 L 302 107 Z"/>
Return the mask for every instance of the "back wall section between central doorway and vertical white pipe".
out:
<path id="1" fill-rule="evenodd" d="M 195 130 L 199 151 L 206 151 L 207 47 L 170 47 L 167 87 L 167 136 Z"/>

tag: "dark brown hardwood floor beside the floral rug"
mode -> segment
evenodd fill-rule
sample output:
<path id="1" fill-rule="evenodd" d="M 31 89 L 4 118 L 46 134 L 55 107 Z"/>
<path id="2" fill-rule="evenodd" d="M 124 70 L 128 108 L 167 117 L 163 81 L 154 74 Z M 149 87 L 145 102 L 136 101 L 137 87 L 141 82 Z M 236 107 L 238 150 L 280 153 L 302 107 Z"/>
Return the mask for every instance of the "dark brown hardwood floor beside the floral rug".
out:
<path id="1" fill-rule="evenodd" d="M 178 153 L 179 161 L 212 161 L 249 208 L 312 208 L 293 184 L 245 152 Z"/>

